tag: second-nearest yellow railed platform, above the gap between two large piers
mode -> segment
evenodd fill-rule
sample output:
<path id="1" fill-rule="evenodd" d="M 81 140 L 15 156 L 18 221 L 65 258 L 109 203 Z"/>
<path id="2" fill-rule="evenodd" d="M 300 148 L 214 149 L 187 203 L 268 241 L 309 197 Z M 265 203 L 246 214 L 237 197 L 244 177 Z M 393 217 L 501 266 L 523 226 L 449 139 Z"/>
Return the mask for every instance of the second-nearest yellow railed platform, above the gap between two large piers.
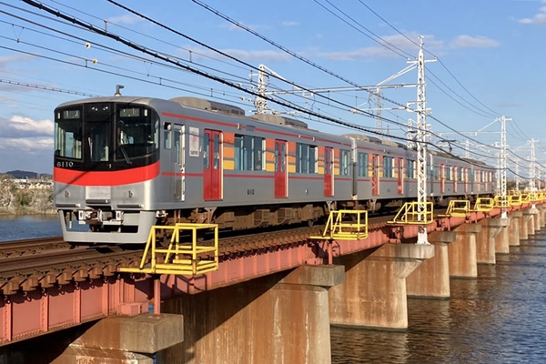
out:
<path id="1" fill-rule="evenodd" d="M 328 222 L 326 223 L 326 227 L 324 227 L 322 235 L 309 238 L 330 240 L 360 240 L 368 238 L 368 211 L 330 211 Z"/>

